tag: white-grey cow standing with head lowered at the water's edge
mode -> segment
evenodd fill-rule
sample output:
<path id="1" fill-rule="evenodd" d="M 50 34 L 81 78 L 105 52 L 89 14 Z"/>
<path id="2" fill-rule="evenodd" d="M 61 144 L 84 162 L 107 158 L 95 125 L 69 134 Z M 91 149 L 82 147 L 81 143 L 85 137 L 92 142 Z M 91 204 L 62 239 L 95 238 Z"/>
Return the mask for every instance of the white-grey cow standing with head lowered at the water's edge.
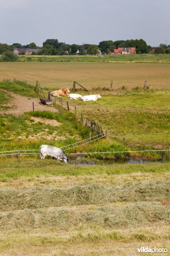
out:
<path id="1" fill-rule="evenodd" d="M 61 148 L 56 148 L 49 145 L 41 145 L 40 146 L 40 157 L 44 159 L 46 156 L 55 157 L 59 161 L 64 161 L 64 163 L 68 163 L 69 159 L 64 154 L 64 151 Z"/>

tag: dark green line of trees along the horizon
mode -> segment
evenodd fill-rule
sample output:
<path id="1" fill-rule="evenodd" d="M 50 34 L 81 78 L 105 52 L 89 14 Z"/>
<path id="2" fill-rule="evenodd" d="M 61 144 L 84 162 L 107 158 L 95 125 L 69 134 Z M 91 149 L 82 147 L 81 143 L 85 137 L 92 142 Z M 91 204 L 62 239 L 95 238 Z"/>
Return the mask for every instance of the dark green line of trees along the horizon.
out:
<path id="1" fill-rule="evenodd" d="M 58 39 L 47 39 L 43 42 L 42 47 L 38 47 L 34 42 L 21 45 L 19 43 L 14 43 L 12 45 L 0 44 L 0 54 L 3 54 L 7 51 L 13 51 L 14 48 L 31 48 L 31 49 L 40 49 L 39 52 L 32 54 L 39 55 L 96 55 L 99 51 L 102 54 L 111 54 L 113 49 L 118 49 L 119 47 L 136 47 L 136 53 L 148 53 L 151 49 L 154 49 L 154 53 L 170 53 L 170 45 L 160 44 L 159 47 L 151 47 L 147 45 L 143 39 L 131 39 L 131 40 L 118 40 L 118 41 L 101 41 L 99 45 L 96 44 L 65 44 L 65 42 L 59 42 Z M 24 53 L 23 53 L 24 54 Z"/>

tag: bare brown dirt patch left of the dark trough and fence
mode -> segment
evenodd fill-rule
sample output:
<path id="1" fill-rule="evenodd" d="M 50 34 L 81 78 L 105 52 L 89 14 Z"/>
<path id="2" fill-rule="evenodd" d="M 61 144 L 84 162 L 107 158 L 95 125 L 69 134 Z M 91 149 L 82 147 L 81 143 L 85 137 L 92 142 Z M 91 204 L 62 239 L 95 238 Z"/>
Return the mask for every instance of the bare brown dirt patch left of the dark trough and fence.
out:
<path id="1" fill-rule="evenodd" d="M 1 89 L 1 90 L 3 90 L 3 89 Z M 13 114 L 13 115 L 18 116 L 18 115 L 22 115 L 24 112 L 33 111 L 32 102 L 34 102 L 34 110 L 35 111 L 36 110 L 39 110 L 39 111 L 48 110 L 51 112 L 58 112 L 58 110 L 54 107 L 45 106 L 45 105 L 41 104 L 39 98 L 29 98 L 29 97 L 21 96 L 19 94 L 9 92 L 7 90 L 3 90 L 3 91 L 13 97 L 11 102 L 9 104 L 7 104 L 7 106 L 10 106 L 12 108 L 9 110 L 0 111 L 0 114 Z"/>

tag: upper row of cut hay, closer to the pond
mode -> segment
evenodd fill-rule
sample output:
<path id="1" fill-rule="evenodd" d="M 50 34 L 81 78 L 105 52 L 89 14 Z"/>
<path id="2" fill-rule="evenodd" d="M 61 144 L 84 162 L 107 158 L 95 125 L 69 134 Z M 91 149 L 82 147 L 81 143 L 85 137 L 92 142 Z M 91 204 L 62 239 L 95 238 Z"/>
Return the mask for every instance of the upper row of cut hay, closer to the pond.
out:
<path id="1" fill-rule="evenodd" d="M 170 200 L 170 181 L 141 182 L 107 188 L 98 184 L 69 189 L 35 187 L 0 190 L 0 210 L 38 209 L 113 202 Z"/>

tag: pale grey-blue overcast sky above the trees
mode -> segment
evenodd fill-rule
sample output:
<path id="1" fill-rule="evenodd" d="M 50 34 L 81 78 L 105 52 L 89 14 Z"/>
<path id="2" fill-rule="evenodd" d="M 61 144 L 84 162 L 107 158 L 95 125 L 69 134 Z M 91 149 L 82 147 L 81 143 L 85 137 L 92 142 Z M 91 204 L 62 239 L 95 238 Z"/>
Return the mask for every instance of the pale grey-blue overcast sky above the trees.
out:
<path id="1" fill-rule="evenodd" d="M 0 43 L 170 44 L 170 0 L 0 0 Z"/>

